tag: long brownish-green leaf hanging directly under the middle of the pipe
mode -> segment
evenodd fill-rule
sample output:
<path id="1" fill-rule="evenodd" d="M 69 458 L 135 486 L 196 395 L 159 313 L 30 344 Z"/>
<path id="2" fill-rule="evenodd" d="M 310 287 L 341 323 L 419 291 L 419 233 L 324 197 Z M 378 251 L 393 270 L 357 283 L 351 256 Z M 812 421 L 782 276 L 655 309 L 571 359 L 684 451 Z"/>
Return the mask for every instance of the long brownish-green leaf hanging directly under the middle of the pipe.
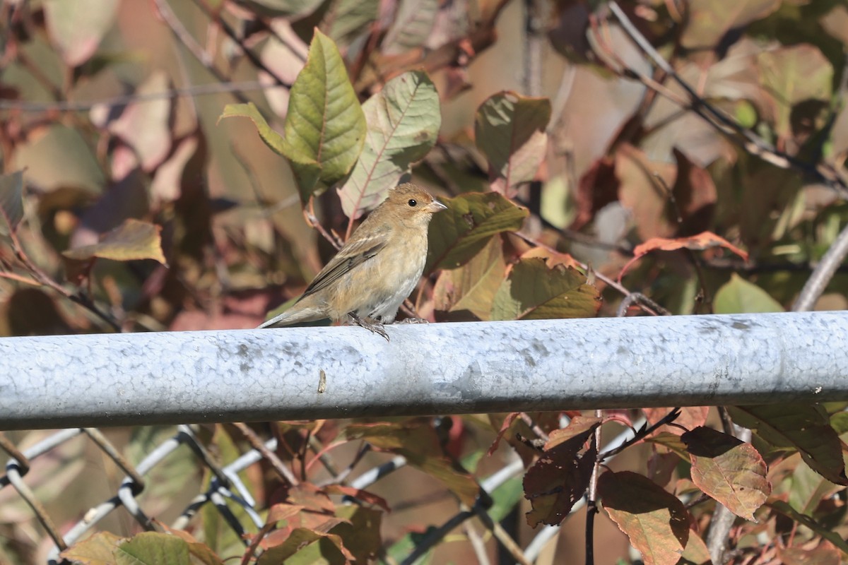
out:
<path id="1" fill-rule="evenodd" d="M 460 501 L 469 506 L 474 504 L 479 492 L 477 481 L 455 468 L 444 455 L 438 435 L 427 420 L 351 424 L 345 435 L 348 439 L 368 440 L 377 449 L 403 455 L 411 465 L 441 481 Z"/>

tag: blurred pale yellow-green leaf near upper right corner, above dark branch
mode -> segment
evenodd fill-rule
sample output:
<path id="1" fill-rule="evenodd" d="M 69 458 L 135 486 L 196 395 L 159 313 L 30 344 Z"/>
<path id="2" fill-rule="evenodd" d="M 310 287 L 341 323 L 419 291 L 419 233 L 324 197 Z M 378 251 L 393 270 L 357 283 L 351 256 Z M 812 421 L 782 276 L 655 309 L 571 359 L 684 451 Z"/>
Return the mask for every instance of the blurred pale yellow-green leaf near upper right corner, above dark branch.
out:
<path id="1" fill-rule="evenodd" d="M 756 56 L 760 84 L 778 136 L 792 135 L 791 114 L 798 102 L 829 100 L 834 68 L 817 47 L 807 44 L 769 49 Z"/>

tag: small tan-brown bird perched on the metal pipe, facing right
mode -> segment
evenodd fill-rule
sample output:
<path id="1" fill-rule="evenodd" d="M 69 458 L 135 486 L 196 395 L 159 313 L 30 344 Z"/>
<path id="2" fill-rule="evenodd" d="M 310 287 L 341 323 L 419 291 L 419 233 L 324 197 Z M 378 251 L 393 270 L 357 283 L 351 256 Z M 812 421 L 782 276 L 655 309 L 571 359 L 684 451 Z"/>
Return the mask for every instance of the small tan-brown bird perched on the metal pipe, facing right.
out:
<path id="1" fill-rule="evenodd" d="M 331 319 L 358 324 L 388 341 L 383 324 L 393 323 L 421 279 L 430 220 L 444 209 L 420 186 L 390 189 L 293 306 L 259 329 Z"/>

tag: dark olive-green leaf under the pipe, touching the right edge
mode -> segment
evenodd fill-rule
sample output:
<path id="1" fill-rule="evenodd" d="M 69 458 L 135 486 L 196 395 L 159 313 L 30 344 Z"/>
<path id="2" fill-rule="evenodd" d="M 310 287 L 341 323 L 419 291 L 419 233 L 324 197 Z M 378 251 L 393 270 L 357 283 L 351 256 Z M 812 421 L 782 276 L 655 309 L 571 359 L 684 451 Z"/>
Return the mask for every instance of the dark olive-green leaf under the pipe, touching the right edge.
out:
<path id="1" fill-rule="evenodd" d="M 818 405 L 776 404 L 734 406 L 728 412 L 736 424 L 756 431 L 772 446 L 801 453 L 804 463 L 836 485 L 848 485 L 842 442 Z"/>

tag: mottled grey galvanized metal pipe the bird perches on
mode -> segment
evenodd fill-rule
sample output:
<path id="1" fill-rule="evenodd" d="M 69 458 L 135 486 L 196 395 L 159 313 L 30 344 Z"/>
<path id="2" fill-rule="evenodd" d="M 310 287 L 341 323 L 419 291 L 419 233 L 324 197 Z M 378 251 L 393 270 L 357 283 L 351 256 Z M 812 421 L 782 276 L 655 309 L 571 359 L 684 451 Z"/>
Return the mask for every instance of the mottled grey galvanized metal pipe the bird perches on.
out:
<path id="1" fill-rule="evenodd" d="M 0 429 L 848 400 L 848 312 L 388 333 L 3 338 Z"/>

